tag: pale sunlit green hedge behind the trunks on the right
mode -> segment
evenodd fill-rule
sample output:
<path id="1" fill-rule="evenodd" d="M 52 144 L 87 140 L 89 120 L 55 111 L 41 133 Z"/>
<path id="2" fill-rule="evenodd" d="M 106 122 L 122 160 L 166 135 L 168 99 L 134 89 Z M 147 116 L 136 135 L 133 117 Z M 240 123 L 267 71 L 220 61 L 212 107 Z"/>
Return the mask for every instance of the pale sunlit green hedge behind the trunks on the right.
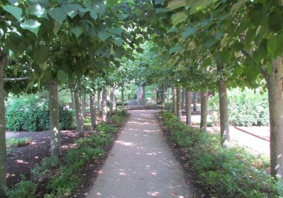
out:
<path id="1" fill-rule="evenodd" d="M 228 91 L 229 122 L 234 126 L 262 126 L 269 124 L 267 93 L 253 92 L 249 89 Z M 219 124 L 219 96 L 209 98 L 212 122 Z"/>

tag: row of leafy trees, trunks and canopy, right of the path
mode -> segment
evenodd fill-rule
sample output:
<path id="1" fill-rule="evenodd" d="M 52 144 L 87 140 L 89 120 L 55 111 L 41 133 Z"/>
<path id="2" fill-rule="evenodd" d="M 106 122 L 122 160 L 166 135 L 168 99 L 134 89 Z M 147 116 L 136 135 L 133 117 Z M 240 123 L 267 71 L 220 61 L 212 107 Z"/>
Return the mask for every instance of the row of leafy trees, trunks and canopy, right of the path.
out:
<path id="1" fill-rule="evenodd" d="M 149 51 L 156 53 L 156 64 L 149 66 L 150 79 L 173 88 L 176 115 L 180 117 L 180 87 L 187 90 L 187 99 L 191 91 L 202 91 L 205 130 L 207 91 L 217 90 L 221 145 L 228 147 L 227 87 L 267 89 L 271 173 L 282 178 L 282 1 L 171 0 L 154 1 L 154 7 Z"/>

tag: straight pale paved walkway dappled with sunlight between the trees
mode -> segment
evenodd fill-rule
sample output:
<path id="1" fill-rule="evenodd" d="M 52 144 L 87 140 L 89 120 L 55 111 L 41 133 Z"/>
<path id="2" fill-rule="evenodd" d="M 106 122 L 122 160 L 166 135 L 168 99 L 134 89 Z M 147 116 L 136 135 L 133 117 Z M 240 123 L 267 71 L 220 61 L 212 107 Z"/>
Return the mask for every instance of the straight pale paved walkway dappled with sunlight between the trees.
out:
<path id="1" fill-rule="evenodd" d="M 156 111 L 130 111 L 88 197 L 193 197 L 163 139 Z"/>

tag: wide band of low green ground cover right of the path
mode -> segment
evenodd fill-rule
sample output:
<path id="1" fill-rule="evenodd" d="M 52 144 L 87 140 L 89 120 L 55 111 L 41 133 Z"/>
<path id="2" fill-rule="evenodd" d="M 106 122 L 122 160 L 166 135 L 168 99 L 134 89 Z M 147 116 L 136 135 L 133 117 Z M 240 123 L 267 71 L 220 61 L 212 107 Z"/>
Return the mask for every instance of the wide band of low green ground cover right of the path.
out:
<path id="1" fill-rule="evenodd" d="M 188 127 L 171 112 L 160 112 L 171 140 L 185 154 L 185 167 L 194 171 L 217 197 L 282 197 L 282 183 L 270 176 L 270 164 L 244 148 L 220 146 L 219 136 Z"/>

